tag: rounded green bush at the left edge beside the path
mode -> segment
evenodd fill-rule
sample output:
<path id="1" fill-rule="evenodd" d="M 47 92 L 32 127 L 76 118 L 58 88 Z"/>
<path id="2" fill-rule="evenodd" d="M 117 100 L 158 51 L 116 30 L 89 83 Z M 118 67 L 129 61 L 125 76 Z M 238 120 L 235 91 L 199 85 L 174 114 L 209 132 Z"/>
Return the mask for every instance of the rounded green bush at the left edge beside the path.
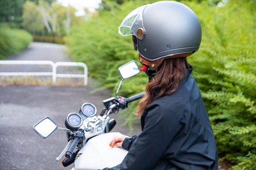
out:
<path id="1" fill-rule="evenodd" d="M 26 31 L 0 24 L 0 60 L 22 51 L 32 40 L 33 37 Z"/>

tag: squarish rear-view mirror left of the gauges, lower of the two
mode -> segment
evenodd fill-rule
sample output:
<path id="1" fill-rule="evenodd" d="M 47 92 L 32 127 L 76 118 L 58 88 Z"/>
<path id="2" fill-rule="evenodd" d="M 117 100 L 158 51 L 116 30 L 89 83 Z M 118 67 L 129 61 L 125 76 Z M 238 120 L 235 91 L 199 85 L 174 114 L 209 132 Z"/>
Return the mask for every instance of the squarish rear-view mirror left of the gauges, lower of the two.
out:
<path id="1" fill-rule="evenodd" d="M 42 138 L 49 137 L 58 125 L 49 117 L 45 117 L 40 122 L 34 125 L 33 130 Z"/>

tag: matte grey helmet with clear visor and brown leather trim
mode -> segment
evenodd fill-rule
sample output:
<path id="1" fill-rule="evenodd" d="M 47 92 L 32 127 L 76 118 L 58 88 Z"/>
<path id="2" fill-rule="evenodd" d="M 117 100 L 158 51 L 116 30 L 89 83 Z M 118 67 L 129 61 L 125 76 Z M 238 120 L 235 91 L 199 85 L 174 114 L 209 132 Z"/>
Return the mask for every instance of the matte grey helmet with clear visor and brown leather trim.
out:
<path id="1" fill-rule="evenodd" d="M 164 58 L 193 54 L 199 50 L 202 38 L 196 14 L 175 1 L 159 1 L 135 9 L 124 18 L 119 33 L 133 35 L 139 60 L 150 69 L 156 69 Z"/>

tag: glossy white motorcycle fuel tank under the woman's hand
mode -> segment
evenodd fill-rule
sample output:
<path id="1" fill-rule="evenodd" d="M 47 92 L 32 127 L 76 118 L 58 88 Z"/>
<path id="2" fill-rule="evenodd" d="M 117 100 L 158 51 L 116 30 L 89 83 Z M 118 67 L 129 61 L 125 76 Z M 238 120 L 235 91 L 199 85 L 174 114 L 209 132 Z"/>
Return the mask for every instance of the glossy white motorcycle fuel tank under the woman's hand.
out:
<path id="1" fill-rule="evenodd" d="M 98 170 L 120 164 L 128 151 L 123 148 L 109 147 L 110 141 L 119 136 L 124 135 L 112 132 L 90 139 L 77 154 L 75 170 Z"/>

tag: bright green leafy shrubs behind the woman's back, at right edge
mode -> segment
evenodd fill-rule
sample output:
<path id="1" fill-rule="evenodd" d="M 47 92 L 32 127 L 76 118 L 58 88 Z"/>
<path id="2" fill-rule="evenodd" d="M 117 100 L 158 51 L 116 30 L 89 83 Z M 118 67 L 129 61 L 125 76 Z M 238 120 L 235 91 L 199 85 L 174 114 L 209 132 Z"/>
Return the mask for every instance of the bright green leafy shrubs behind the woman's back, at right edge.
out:
<path id="1" fill-rule="evenodd" d="M 238 163 L 234 169 L 255 169 L 255 2 L 228 1 L 221 7 L 207 7 L 206 2 L 189 5 L 203 28 L 200 51 L 189 61 L 196 65 L 193 73 L 202 90 L 218 152 L 222 159 Z"/>

